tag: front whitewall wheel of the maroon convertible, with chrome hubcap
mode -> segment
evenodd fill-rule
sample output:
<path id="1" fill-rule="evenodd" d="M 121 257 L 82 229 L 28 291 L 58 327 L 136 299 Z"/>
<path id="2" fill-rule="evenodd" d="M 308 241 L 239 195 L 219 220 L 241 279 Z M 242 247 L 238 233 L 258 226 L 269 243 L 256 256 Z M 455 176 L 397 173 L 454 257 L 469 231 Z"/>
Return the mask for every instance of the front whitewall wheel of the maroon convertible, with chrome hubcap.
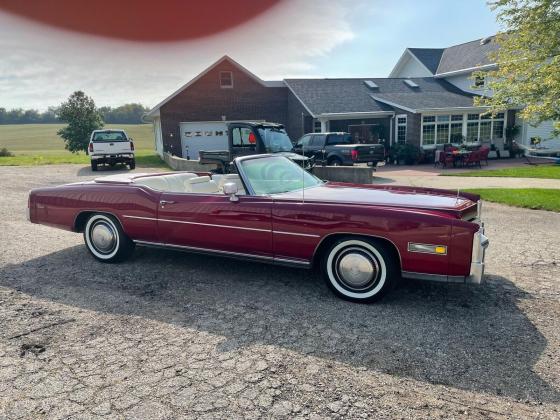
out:
<path id="1" fill-rule="evenodd" d="M 335 242 L 325 253 L 322 268 L 331 290 L 354 302 L 380 299 L 399 275 L 396 256 L 386 245 L 361 238 Z"/>

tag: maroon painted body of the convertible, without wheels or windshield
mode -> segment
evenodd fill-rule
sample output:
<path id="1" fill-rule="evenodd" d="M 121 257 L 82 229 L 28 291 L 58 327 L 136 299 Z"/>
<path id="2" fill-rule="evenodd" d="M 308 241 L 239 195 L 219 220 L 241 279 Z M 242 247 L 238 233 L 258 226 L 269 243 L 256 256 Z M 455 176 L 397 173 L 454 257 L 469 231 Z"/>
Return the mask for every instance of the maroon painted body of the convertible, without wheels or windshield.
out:
<path id="1" fill-rule="evenodd" d="M 150 174 L 153 176 L 154 174 Z M 110 213 L 133 240 L 310 265 L 323 240 L 349 234 L 381 238 L 398 250 L 401 269 L 469 275 L 479 229 L 473 194 L 428 188 L 326 183 L 272 196 L 168 193 L 106 177 L 30 193 L 30 220 L 79 231 L 91 212 Z M 160 205 L 160 200 L 174 202 Z M 179 223 L 177 223 L 179 222 Z M 184 223 L 188 222 L 188 223 Z M 446 255 L 409 252 L 408 243 L 447 246 Z"/>

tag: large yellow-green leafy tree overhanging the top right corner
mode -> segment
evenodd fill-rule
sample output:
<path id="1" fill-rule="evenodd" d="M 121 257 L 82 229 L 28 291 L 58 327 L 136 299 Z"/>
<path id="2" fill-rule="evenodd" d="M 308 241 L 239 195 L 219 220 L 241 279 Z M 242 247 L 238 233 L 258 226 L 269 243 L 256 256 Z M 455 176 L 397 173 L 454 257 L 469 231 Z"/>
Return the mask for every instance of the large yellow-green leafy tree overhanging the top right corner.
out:
<path id="1" fill-rule="evenodd" d="M 497 69 L 473 74 L 486 77 L 493 96 L 475 104 L 493 113 L 523 107 L 521 118 L 534 125 L 560 120 L 560 0 L 496 0 L 490 7 L 506 30 L 489 57 Z"/>

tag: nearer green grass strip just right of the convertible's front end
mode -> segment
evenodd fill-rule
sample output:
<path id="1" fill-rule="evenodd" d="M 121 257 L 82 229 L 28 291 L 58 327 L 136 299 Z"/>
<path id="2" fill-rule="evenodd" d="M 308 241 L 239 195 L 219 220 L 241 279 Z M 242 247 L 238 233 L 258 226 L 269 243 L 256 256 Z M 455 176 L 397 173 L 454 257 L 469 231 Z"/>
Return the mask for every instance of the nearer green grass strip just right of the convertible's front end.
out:
<path id="1" fill-rule="evenodd" d="M 560 190 L 546 188 L 481 188 L 468 189 L 483 200 L 528 209 L 560 212 Z"/>

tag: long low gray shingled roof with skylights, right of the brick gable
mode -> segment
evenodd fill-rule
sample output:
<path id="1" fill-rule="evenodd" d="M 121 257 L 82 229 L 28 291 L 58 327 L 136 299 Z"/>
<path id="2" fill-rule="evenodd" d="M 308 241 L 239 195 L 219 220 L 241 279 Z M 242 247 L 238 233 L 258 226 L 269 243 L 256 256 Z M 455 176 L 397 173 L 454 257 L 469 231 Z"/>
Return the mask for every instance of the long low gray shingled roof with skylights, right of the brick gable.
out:
<path id="1" fill-rule="evenodd" d="M 368 88 L 371 80 L 376 89 Z M 472 95 L 444 80 L 431 77 L 410 78 L 418 87 L 404 83 L 404 78 L 363 79 L 286 79 L 284 82 L 314 114 L 379 112 L 393 108 L 372 96 L 406 108 L 446 108 L 472 106 Z M 389 99 L 391 98 L 391 99 Z"/>

